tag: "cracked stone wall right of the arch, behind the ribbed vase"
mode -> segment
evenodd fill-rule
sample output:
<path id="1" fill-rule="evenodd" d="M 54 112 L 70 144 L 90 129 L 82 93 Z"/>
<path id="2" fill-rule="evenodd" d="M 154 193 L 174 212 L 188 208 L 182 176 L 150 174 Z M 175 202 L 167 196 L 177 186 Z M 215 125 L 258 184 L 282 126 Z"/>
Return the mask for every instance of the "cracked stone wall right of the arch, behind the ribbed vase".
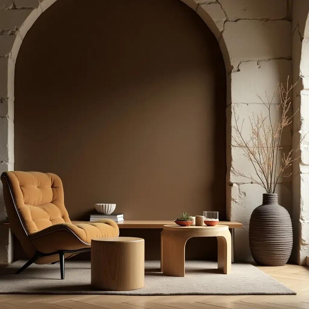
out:
<path id="1" fill-rule="evenodd" d="M 248 241 L 249 220 L 253 209 L 262 203 L 263 188 L 250 180 L 231 174 L 231 166 L 252 171 L 241 149 L 231 142 L 231 103 L 239 119 L 245 118 L 244 131 L 250 129 L 248 116 L 265 108 L 265 90 L 272 95 L 278 82 L 292 75 L 291 3 L 285 0 L 182 0 L 197 11 L 216 36 L 224 57 L 227 76 L 227 219 L 243 223 L 235 230 L 235 259 L 251 260 Z M 273 103 L 278 101 L 274 100 Z M 274 112 L 274 110 L 273 110 Z M 282 146 L 291 147 L 287 132 Z M 279 202 L 292 214 L 292 183 L 285 179 L 277 188 Z"/>

